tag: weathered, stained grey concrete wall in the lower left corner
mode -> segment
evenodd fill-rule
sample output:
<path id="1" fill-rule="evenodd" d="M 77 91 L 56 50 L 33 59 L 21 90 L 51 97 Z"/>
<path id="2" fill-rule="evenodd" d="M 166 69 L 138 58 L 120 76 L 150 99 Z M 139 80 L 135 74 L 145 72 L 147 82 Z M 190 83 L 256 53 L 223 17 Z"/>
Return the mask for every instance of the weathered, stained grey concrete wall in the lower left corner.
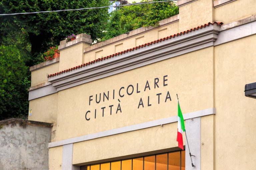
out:
<path id="1" fill-rule="evenodd" d="M 48 170 L 50 127 L 12 122 L 0 128 L 0 170 Z"/>

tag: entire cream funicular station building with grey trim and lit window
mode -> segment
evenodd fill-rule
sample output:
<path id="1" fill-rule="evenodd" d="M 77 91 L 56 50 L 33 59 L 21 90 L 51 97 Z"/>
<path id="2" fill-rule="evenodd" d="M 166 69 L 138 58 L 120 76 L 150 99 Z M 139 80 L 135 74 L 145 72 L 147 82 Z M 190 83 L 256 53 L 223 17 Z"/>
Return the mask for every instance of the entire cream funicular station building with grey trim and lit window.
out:
<path id="1" fill-rule="evenodd" d="M 256 167 L 255 0 L 179 0 L 179 15 L 32 66 L 29 120 L 53 123 L 50 170 Z M 177 97 L 186 138 L 178 148 Z"/>

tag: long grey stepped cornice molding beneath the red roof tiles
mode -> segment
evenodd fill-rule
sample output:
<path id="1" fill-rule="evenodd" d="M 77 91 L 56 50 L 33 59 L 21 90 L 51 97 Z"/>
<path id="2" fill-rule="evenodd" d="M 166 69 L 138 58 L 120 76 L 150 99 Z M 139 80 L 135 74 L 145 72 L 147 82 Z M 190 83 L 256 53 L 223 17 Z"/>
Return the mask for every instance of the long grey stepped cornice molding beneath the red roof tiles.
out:
<path id="1" fill-rule="evenodd" d="M 208 46 L 220 45 L 255 34 L 256 16 L 225 24 L 220 28 L 217 25 L 215 27 L 211 25 L 189 34 L 129 51 L 58 76 L 49 77 L 48 81 L 50 83 L 30 89 L 29 100 Z"/>

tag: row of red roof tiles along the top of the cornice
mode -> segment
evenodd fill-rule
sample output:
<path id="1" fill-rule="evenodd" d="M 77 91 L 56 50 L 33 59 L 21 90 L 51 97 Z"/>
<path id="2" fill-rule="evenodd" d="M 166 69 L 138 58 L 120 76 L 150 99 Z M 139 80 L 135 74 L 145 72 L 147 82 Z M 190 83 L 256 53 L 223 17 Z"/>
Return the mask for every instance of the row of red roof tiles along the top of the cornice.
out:
<path id="1" fill-rule="evenodd" d="M 154 43 L 158 43 L 158 42 L 165 41 L 165 40 L 168 40 L 168 39 L 171 39 L 171 38 L 174 38 L 174 37 L 178 37 L 178 36 L 181 36 L 181 35 L 183 35 L 183 34 L 187 34 L 187 33 L 189 33 L 189 32 L 196 31 L 196 30 L 202 29 L 202 28 L 204 28 L 204 27 L 206 27 L 206 26 L 213 25 L 213 24 L 217 24 L 217 25 L 221 26 L 221 25 L 223 25 L 223 22 L 213 22 L 213 23 L 209 22 L 208 24 L 204 24 L 204 25 L 195 27 L 195 28 L 190 29 L 190 30 L 187 30 L 187 31 L 183 31 L 183 32 L 180 32 L 180 33 L 177 33 L 177 34 L 174 34 L 174 35 L 171 35 L 171 36 L 168 36 L 168 37 L 159 39 L 159 40 L 155 40 L 155 41 L 148 42 L 148 43 L 145 43 L 145 44 L 142 44 L 142 45 L 139 45 L 139 46 L 130 48 L 130 49 L 126 49 L 126 50 L 124 50 L 124 51 L 121 51 L 121 52 L 117 52 L 117 53 L 115 53 L 115 54 L 108 55 L 108 56 L 106 56 L 106 57 L 98 58 L 98 59 L 95 59 L 95 60 L 93 60 L 93 61 L 87 62 L 87 63 L 85 63 L 85 64 L 81 64 L 81 65 L 78 65 L 78 66 L 76 66 L 76 67 L 69 68 L 69 69 L 66 69 L 66 70 L 63 70 L 63 71 L 60 71 L 60 72 L 57 72 L 57 73 L 49 74 L 48 77 L 53 77 L 53 76 L 56 76 L 56 75 L 59 75 L 59 74 L 65 73 L 65 72 L 72 71 L 72 70 L 74 70 L 74 69 L 78 69 L 78 68 L 81 68 L 81 67 L 85 67 L 85 66 L 90 65 L 90 64 L 93 64 L 93 63 L 95 63 L 95 62 L 102 61 L 102 60 L 105 60 L 105 59 L 108 59 L 108 58 L 111 58 L 111 57 L 114 57 L 114 56 L 117 56 L 117 55 L 122 55 L 122 54 L 124 54 L 124 53 L 126 53 L 126 52 L 133 51 L 134 49 L 143 48 L 143 47 L 145 47 L 145 46 L 149 46 L 149 45 L 152 45 L 152 44 L 154 44 Z"/>

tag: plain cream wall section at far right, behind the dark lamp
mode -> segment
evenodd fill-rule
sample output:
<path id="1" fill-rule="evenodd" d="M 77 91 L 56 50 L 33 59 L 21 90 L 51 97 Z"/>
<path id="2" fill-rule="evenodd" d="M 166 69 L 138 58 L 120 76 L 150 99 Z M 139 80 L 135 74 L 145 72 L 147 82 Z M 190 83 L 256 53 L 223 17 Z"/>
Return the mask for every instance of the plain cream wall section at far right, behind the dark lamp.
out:
<path id="1" fill-rule="evenodd" d="M 243 92 L 255 82 L 255 43 L 256 35 L 215 47 L 216 169 L 256 167 L 256 100 Z"/>

